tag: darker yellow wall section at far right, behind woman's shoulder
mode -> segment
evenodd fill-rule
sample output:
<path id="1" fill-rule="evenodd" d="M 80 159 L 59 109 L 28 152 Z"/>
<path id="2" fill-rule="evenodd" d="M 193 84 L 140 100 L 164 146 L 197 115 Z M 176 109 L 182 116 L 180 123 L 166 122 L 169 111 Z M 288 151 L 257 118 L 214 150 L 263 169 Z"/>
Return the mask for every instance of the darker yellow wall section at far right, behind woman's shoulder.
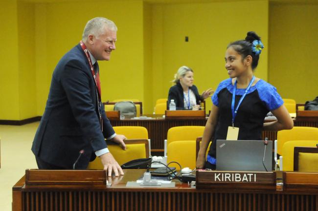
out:
<path id="1" fill-rule="evenodd" d="M 318 4 L 270 7 L 269 82 L 297 103 L 318 96 L 317 11 Z"/>

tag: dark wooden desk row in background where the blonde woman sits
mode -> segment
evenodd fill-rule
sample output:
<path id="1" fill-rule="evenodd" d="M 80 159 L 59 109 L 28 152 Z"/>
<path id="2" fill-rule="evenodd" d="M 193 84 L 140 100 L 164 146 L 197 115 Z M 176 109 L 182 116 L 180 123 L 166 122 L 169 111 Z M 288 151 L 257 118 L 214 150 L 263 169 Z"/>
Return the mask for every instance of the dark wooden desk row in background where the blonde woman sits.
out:
<path id="1" fill-rule="evenodd" d="M 163 118 L 162 115 L 145 115 L 147 119 L 112 119 L 112 126 L 141 126 L 148 130 L 148 137 L 151 140 L 151 151 L 163 151 L 164 140 L 167 139 L 168 129 L 177 126 L 205 126 L 207 118 L 198 117 L 174 117 Z M 273 120 L 266 120 L 273 121 Z M 303 117 L 294 119 L 294 126 L 318 127 L 318 118 Z M 276 140 L 277 131 L 263 131 L 263 140 Z"/>

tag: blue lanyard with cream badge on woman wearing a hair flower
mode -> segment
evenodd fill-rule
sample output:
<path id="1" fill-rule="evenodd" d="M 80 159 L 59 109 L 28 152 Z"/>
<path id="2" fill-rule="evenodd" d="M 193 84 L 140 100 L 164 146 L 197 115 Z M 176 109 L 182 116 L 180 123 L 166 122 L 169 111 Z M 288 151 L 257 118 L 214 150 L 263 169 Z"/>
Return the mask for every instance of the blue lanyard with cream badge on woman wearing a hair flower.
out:
<path id="1" fill-rule="evenodd" d="M 234 120 L 237 114 L 237 110 L 239 108 L 239 106 L 241 105 L 243 99 L 245 98 L 245 96 L 247 95 L 248 91 L 250 90 L 250 86 L 253 84 L 255 80 L 255 76 L 253 76 L 252 80 L 250 80 L 250 84 L 249 86 L 245 89 L 245 92 L 243 94 L 243 96 L 241 97 L 241 99 L 239 100 L 235 110 L 234 110 L 234 104 L 235 104 L 235 94 L 236 94 L 236 84 L 237 81 L 235 81 L 234 83 L 234 87 L 233 87 L 233 95 L 232 95 L 232 105 L 231 105 L 231 110 L 232 110 L 232 126 L 229 126 L 227 128 L 227 140 L 237 140 L 238 139 L 238 133 L 239 133 L 239 127 L 234 127 Z"/>

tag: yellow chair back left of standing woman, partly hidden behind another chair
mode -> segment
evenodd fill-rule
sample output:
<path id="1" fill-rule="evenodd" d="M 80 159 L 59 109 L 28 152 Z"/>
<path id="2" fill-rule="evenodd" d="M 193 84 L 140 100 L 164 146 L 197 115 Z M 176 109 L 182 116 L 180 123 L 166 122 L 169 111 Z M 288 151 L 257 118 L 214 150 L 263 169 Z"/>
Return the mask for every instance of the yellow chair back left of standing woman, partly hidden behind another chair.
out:
<path id="1" fill-rule="evenodd" d="M 167 139 L 164 140 L 164 156 L 167 156 L 167 146 L 174 141 L 197 140 L 197 137 L 203 135 L 204 126 L 179 126 L 171 127 L 167 133 Z"/>

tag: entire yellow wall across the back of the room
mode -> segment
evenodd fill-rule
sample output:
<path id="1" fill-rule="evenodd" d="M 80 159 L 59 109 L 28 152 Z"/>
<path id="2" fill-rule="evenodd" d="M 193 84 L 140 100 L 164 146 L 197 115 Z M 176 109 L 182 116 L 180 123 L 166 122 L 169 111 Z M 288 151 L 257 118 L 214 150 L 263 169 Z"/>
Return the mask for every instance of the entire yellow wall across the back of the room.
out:
<path id="1" fill-rule="evenodd" d="M 136 98 L 143 101 L 145 114 L 152 113 L 156 100 L 167 97 L 181 65 L 194 69 L 200 92 L 215 89 L 228 77 L 227 44 L 244 39 L 250 30 L 265 44 L 256 76 L 268 79 L 282 97 L 298 103 L 317 95 L 317 4 L 95 1 L 1 1 L 0 38 L 5 49 L 0 51 L 1 120 L 43 114 L 56 63 L 79 42 L 86 22 L 96 16 L 118 26 L 111 61 L 100 62 L 103 101 Z M 189 42 L 184 42 L 185 36 Z M 208 110 L 211 101 L 206 102 Z"/>

